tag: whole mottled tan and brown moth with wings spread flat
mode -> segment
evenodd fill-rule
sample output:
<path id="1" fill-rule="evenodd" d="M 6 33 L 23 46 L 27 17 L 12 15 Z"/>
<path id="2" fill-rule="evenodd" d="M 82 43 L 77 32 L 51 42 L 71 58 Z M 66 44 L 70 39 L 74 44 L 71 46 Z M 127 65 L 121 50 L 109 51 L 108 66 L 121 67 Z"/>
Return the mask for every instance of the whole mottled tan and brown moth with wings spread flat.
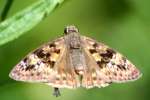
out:
<path id="1" fill-rule="evenodd" d="M 67 26 L 64 36 L 29 53 L 10 72 L 17 81 L 44 83 L 59 88 L 106 87 L 133 81 L 141 72 L 124 56 L 107 45 L 80 35 Z"/>

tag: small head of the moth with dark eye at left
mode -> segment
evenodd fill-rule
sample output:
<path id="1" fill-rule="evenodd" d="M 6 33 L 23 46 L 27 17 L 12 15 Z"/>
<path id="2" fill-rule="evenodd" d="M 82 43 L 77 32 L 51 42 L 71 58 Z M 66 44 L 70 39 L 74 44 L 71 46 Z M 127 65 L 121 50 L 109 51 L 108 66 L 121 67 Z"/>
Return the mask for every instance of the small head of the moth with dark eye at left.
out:
<path id="1" fill-rule="evenodd" d="M 64 29 L 64 34 L 65 35 L 70 34 L 70 33 L 78 33 L 78 32 L 79 32 L 78 28 L 74 25 L 67 26 Z"/>

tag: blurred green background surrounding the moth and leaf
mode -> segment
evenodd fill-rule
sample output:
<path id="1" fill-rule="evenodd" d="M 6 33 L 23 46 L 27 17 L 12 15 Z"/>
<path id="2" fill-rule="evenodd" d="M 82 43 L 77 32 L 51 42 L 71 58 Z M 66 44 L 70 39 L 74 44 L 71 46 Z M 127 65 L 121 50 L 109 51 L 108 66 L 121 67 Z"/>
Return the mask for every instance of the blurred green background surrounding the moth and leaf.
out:
<path id="1" fill-rule="evenodd" d="M 14 0 L 8 17 L 37 0 Z M 5 0 L 0 0 L 0 8 Z M 67 0 L 40 24 L 18 39 L 0 46 L 0 100 L 149 100 L 150 99 L 150 1 Z M 30 22 L 29 22 L 30 23 Z M 131 60 L 142 78 L 106 88 L 61 89 L 43 84 L 16 82 L 10 70 L 31 50 L 62 36 L 66 25 L 76 25 L 82 35 L 102 41 Z"/>

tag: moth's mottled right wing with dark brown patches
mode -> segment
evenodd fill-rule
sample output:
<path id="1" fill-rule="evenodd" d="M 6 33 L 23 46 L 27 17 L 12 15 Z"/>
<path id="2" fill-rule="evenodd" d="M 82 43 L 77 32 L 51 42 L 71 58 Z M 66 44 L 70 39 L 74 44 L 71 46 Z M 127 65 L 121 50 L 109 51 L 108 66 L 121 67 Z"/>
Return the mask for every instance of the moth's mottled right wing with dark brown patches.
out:
<path id="1" fill-rule="evenodd" d="M 141 76 L 140 71 L 120 53 L 91 38 L 81 36 L 81 40 L 87 59 L 90 59 L 83 76 L 84 87 L 105 87 L 112 82 L 136 80 Z"/>

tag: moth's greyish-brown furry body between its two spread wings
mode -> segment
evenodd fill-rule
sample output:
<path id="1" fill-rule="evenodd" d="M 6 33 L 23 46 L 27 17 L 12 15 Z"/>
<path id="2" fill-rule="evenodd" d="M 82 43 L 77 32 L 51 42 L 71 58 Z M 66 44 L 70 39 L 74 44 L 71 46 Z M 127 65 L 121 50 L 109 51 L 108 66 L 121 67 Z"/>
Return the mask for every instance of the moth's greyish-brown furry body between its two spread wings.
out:
<path id="1" fill-rule="evenodd" d="M 77 29 L 71 29 L 72 27 L 66 28 L 66 36 L 64 36 L 64 40 L 66 43 L 69 61 L 71 64 L 70 67 L 73 67 L 76 74 L 82 75 L 86 68 L 86 58 L 83 52 L 82 43 L 80 35 Z M 66 60 L 67 61 L 67 60 Z"/>

